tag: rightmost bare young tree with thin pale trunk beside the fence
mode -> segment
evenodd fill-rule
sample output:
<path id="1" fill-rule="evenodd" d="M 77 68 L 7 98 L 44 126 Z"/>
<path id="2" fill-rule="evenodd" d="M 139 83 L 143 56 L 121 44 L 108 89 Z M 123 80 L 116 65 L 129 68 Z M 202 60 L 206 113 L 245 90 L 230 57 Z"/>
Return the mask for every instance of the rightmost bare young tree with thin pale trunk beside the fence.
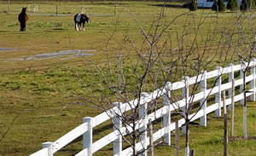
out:
<path id="1" fill-rule="evenodd" d="M 244 138 L 247 138 L 247 93 L 249 93 L 246 89 L 246 75 L 247 72 L 255 68 L 254 65 L 252 66 L 252 62 L 256 55 L 256 33 L 252 18 L 253 15 L 251 13 L 239 14 L 236 19 L 236 27 L 234 27 L 232 33 L 225 33 L 225 38 L 227 38 L 230 49 L 232 49 L 233 60 L 240 61 L 242 68 L 241 78 L 243 79 L 243 84 L 241 85 L 241 93 L 243 93 L 243 100 L 241 100 L 241 104 L 243 105 Z M 255 84 L 253 85 L 255 87 Z"/>

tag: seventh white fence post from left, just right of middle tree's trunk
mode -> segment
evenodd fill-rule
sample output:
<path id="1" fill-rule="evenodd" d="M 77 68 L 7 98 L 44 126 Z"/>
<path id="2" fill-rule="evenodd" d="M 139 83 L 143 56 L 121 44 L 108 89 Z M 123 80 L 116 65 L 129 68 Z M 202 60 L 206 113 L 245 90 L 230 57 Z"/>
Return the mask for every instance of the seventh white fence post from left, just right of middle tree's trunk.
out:
<path id="1" fill-rule="evenodd" d="M 201 74 L 200 90 L 203 91 L 204 97 L 200 100 L 200 106 L 203 110 L 203 116 L 200 118 L 200 125 L 207 126 L 207 71 L 201 71 Z"/>

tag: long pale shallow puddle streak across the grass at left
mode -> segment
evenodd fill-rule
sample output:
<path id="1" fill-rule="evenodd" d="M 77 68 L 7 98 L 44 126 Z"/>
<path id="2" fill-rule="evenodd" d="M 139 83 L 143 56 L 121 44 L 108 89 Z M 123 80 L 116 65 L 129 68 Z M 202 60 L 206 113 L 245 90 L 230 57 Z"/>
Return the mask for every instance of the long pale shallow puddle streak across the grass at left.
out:
<path id="1" fill-rule="evenodd" d="M 96 52 L 94 49 L 74 49 L 74 50 L 63 50 L 54 53 L 44 53 L 40 55 L 28 55 L 20 58 L 12 58 L 8 60 L 2 60 L 2 62 L 9 61 L 32 61 L 32 60 L 45 60 L 45 59 L 59 59 L 59 60 L 70 60 L 77 57 L 96 55 L 88 52 Z"/>

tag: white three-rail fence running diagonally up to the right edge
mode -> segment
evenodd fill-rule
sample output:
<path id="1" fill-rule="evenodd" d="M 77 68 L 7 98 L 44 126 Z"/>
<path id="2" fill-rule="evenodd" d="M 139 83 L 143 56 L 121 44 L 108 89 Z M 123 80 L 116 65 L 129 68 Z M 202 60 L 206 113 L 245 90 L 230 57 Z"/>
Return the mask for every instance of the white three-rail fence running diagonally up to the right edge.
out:
<path id="1" fill-rule="evenodd" d="M 250 74 L 246 77 L 246 82 L 250 83 L 250 90 L 247 93 L 247 96 L 251 97 L 251 100 L 255 101 L 255 66 L 256 62 L 252 60 L 250 62 Z M 180 101 L 175 102 L 175 105 L 172 105 L 172 103 L 169 101 L 168 96 L 171 95 L 172 90 L 189 90 L 189 85 L 200 83 L 201 91 L 195 95 L 193 98 L 193 102 L 200 101 L 201 110 L 198 113 L 190 114 L 189 118 L 190 121 L 194 121 L 195 119 L 200 118 L 200 124 L 202 126 L 207 126 L 207 114 L 212 113 L 215 111 L 215 116 L 219 117 L 221 116 L 221 108 L 223 107 L 223 102 L 221 101 L 221 92 L 223 90 L 228 90 L 229 97 L 226 98 L 226 105 L 231 104 L 231 91 L 232 91 L 232 79 L 234 78 L 234 72 L 240 71 L 240 78 L 236 78 L 235 80 L 235 86 L 240 86 L 240 93 L 238 95 L 235 95 L 234 99 L 235 101 L 240 101 L 242 104 L 243 99 L 243 92 L 242 92 L 242 84 L 243 84 L 243 72 L 245 66 L 247 66 L 248 63 L 241 63 L 239 65 L 232 65 L 228 67 L 217 67 L 216 70 L 212 72 L 201 72 L 200 75 L 195 76 L 193 78 L 183 78 L 182 81 L 176 82 L 176 83 L 166 83 L 166 85 L 159 90 L 154 90 L 154 92 L 143 94 L 142 101 L 140 102 L 143 107 L 140 107 L 141 110 L 139 112 L 143 112 L 143 110 L 147 109 L 147 103 L 150 101 L 153 101 L 156 98 L 159 98 L 160 96 L 163 96 L 164 98 L 164 105 L 163 107 L 156 110 L 154 113 L 150 113 L 146 116 L 146 118 L 141 119 L 141 121 L 137 122 L 140 124 L 137 124 L 137 130 L 142 128 L 147 128 L 148 120 L 151 119 L 152 121 L 156 120 L 157 118 L 164 119 L 164 124 L 160 130 L 157 130 L 153 134 L 153 142 L 157 141 L 161 137 L 164 137 L 164 142 L 171 145 L 171 131 L 175 130 L 175 123 L 171 123 L 171 113 L 174 112 L 179 107 L 184 107 L 186 105 L 185 99 L 189 99 L 189 97 L 184 97 Z M 221 78 L 224 75 L 228 76 L 228 82 L 225 84 L 222 84 Z M 218 78 L 217 83 L 215 87 L 211 89 L 207 89 L 207 79 L 209 78 Z M 168 95 L 168 96 L 167 96 Z M 186 94 L 184 94 L 186 95 Z M 207 107 L 207 96 L 208 95 L 215 95 L 215 103 Z M 68 143 L 72 142 L 74 139 L 76 139 L 79 136 L 83 136 L 83 149 L 77 153 L 77 156 L 80 155 L 92 155 L 93 153 L 96 153 L 98 150 L 100 150 L 102 147 L 107 146 L 109 143 L 113 143 L 113 155 L 131 155 L 132 154 L 132 148 L 127 147 L 126 149 L 122 149 L 122 135 L 124 136 L 126 133 L 125 127 L 122 127 L 122 123 L 118 118 L 114 117 L 114 114 L 125 111 L 131 110 L 131 107 L 137 104 L 138 100 L 135 99 L 133 101 L 129 101 L 129 103 L 114 103 L 116 107 L 113 107 L 113 109 L 108 110 L 106 113 L 101 113 L 97 115 L 94 118 L 86 117 L 83 118 L 84 123 L 80 124 L 75 129 L 68 132 L 65 136 L 61 136 L 58 140 L 55 142 L 44 142 L 43 143 L 43 149 L 39 150 L 36 153 L 32 153 L 31 156 L 51 156 L 57 151 L 59 151 L 62 147 L 65 147 Z M 177 107 L 178 105 L 178 107 Z M 103 122 L 112 119 L 113 123 L 115 124 L 113 127 L 113 132 L 109 133 L 107 136 L 102 137 L 101 139 L 97 140 L 96 142 L 93 141 L 93 128 L 96 127 L 96 125 L 102 124 Z M 180 119 L 178 121 L 178 127 L 182 127 L 185 123 L 184 119 Z M 119 129 L 119 130 L 118 130 Z M 122 135 L 119 135 L 119 133 L 122 133 Z M 143 139 L 141 139 L 141 142 L 137 142 L 137 151 L 142 150 L 143 147 L 147 147 L 149 145 L 149 138 L 146 134 L 146 131 L 144 132 Z"/>

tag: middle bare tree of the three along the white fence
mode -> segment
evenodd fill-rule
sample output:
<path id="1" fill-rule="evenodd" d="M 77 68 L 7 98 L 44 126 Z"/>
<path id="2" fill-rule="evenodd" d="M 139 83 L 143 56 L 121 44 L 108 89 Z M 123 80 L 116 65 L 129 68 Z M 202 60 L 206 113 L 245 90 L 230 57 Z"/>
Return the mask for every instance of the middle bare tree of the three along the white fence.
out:
<path id="1" fill-rule="evenodd" d="M 182 118 L 184 118 L 185 123 L 183 126 L 183 133 L 186 135 L 186 155 L 189 155 L 189 123 L 191 119 L 201 110 L 202 107 L 206 107 L 207 99 L 210 97 L 211 91 L 205 95 L 205 98 L 201 100 L 200 107 L 195 108 L 195 95 L 198 90 L 207 90 L 207 87 L 213 88 L 218 83 L 219 78 L 222 75 L 222 71 L 220 70 L 218 78 L 216 78 L 211 86 L 207 86 L 206 84 L 206 72 L 211 69 L 211 66 L 224 66 L 228 62 L 230 62 L 230 58 L 228 56 L 229 49 L 227 48 L 226 43 L 222 39 L 224 37 L 224 31 L 226 27 L 218 26 L 218 20 L 212 21 L 216 22 L 214 27 L 209 26 L 207 29 L 206 38 L 201 43 L 199 41 L 201 34 L 201 26 L 204 25 L 208 16 L 201 18 L 198 23 L 195 23 L 195 19 L 193 21 L 193 25 L 190 24 L 191 27 L 183 29 L 182 38 L 178 39 L 180 41 L 177 43 L 180 48 L 178 48 L 179 61 L 178 69 L 181 71 L 181 75 L 183 76 L 183 82 L 185 87 L 183 89 L 182 97 L 175 96 L 172 94 L 172 105 L 173 107 L 177 107 L 177 114 L 180 114 Z M 187 22 L 191 22 L 188 20 Z M 186 26 L 186 25 L 185 25 Z M 195 31 L 191 31 L 195 30 Z M 178 33 L 178 32 L 177 32 Z M 185 43 L 186 38 L 191 38 L 188 44 Z M 218 61 L 217 61 L 218 60 Z M 174 72 L 176 74 L 176 72 Z M 201 75 L 201 76 L 200 76 Z M 189 77 L 194 77 L 196 82 L 193 85 L 189 85 Z M 179 107 L 177 101 L 182 98 L 185 101 L 184 107 Z M 191 113 L 195 113 L 194 116 L 189 117 Z M 206 117 L 201 118 L 201 125 L 206 126 Z"/>

